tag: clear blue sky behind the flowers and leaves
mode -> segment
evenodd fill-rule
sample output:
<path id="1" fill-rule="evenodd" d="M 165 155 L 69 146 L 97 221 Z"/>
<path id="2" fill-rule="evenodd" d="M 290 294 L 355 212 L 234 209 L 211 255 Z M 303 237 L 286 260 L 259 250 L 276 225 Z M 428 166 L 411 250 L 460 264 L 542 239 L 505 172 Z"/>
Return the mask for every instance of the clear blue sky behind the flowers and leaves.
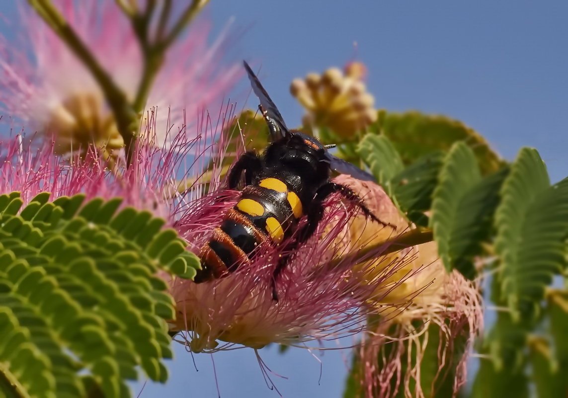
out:
<path id="1" fill-rule="evenodd" d="M 11 1 L 0 5 L 3 14 L 13 12 Z M 207 12 L 218 31 L 233 17 L 246 28 L 233 55 L 261 66 L 262 82 L 289 125 L 303 114 L 289 94 L 291 79 L 356 59 L 369 68 L 377 107 L 448 115 L 505 158 L 534 146 L 553 181 L 568 175 L 565 0 L 212 0 Z M 256 108 L 252 97 L 249 106 Z M 285 397 L 343 393 L 349 351 L 325 352 L 320 381 L 320 363 L 307 350 L 280 355 L 269 347 L 260 355 L 288 378 L 272 377 Z M 178 345 L 169 368 L 168 384 L 147 384 L 140 397 L 215 398 L 216 381 L 223 398 L 278 397 L 249 349 L 192 358 Z M 135 394 L 140 387 L 134 385 Z"/>

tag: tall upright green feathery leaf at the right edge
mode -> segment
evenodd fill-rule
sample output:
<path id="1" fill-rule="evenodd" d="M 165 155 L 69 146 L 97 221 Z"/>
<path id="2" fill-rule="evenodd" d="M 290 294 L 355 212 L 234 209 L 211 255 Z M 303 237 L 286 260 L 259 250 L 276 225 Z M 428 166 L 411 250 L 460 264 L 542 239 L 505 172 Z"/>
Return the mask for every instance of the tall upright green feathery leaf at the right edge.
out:
<path id="1" fill-rule="evenodd" d="M 500 300 L 513 319 L 536 317 L 545 287 L 565 267 L 568 179 L 550 186 L 534 149 L 521 149 L 500 191 L 495 251 L 500 258 Z"/>

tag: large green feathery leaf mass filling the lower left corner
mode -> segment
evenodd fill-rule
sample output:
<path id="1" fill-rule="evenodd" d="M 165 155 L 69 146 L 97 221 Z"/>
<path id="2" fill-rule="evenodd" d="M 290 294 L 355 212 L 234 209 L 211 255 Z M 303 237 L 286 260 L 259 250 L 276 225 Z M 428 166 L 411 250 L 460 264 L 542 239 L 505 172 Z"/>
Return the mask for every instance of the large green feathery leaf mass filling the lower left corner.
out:
<path id="1" fill-rule="evenodd" d="M 123 398 L 140 368 L 165 382 L 174 308 L 155 274 L 193 278 L 199 260 L 120 199 L 48 196 L 19 212 L 0 195 L 0 396 Z"/>

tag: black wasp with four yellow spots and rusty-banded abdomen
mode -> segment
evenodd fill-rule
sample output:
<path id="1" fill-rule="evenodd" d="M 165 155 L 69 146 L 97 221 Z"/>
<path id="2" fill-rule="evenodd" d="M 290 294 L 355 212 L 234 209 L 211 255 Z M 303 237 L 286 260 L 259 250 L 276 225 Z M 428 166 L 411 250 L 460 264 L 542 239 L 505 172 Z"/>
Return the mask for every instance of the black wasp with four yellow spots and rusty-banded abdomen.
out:
<path id="1" fill-rule="evenodd" d="M 335 145 L 322 145 L 312 136 L 287 128 L 246 61 L 244 67 L 260 100 L 259 109 L 269 127 L 270 143 L 262 154 L 245 152 L 229 170 L 227 187 L 234 190 L 244 177 L 244 188 L 237 204 L 227 211 L 221 225 L 202 246 L 199 252 L 202 269 L 194 281 L 201 283 L 235 272 L 250 262 L 260 244 L 282 244 L 283 254 L 272 278 L 272 295 L 277 301 L 278 276 L 290 254 L 316 231 L 324 215 L 324 200 L 329 195 L 338 193 L 373 221 L 396 228 L 373 215 L 349 187 L 331 181 L 332 171 L 366 181 L 375 181 L 373 175 L 329 153 L 328 149 Z M 304 217 L 306 223 L 299 228 Z M 288 239 L 293 235 L 295 239 Z"/>

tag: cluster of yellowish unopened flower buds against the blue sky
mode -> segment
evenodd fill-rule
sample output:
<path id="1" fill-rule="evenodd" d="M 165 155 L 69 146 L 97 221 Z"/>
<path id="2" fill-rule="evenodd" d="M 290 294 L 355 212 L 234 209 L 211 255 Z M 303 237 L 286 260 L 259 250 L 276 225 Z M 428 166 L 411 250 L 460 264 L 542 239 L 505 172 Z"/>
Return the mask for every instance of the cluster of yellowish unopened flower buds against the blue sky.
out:
<path id="1" fill-rule="evenodd" d="M 349 138 L 377 121 L 375 99 L 363 82 L 365 65 L 350 62 L 341 71 L 329 68 L 323 74 L 296 78 L 290 92 L 308 111 L 303 124 L 329 127 L 336 135 Z"/>

